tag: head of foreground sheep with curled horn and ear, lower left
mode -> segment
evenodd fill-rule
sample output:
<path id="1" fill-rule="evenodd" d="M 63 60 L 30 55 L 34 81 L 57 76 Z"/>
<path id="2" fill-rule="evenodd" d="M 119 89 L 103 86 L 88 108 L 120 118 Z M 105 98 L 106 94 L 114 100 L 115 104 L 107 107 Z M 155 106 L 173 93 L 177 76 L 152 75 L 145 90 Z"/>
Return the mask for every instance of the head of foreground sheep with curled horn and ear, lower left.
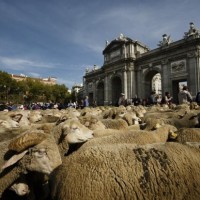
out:
<path id="1" fill-rule="evenodd" d="M 16 152 L 2 167 L 2 170 L 18 163 L 24 171 L 50 174 L 61 165 L 61 157 L 54 138 L 43 131 L 26 132 L 12 140 L 9 150 Z"/>

